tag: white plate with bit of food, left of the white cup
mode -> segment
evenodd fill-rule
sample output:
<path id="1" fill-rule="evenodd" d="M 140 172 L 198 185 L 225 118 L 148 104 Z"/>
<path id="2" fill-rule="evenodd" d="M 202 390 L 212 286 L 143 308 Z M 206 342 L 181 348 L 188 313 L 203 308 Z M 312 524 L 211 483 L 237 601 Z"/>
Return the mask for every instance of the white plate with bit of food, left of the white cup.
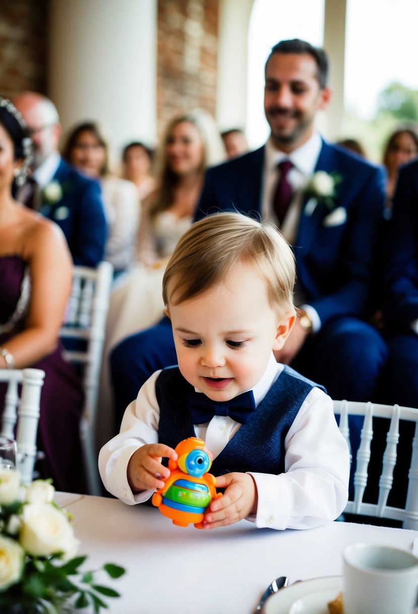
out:
<path id="1" fill-rule="evenodd" d="M 343 588 L 342 576 L 328 576 L 325 578 L 313 578 L 303 582 L 296 582 L 287 588 L 283 588 L 271 597 L 268 597 L 264 604 L 263 614 L 289 614 L 289 610 L 295 601 L 302 599 L 310 593 L 321 593 L 322 591 L 335 590 L 335 594 L 329 599 L 325 596 L 322 602 L 322 610 L 327 612 L 327 602 L 334 599 Z M 322 610 L 301 610 L 303 614 L 320 614 Z"/>

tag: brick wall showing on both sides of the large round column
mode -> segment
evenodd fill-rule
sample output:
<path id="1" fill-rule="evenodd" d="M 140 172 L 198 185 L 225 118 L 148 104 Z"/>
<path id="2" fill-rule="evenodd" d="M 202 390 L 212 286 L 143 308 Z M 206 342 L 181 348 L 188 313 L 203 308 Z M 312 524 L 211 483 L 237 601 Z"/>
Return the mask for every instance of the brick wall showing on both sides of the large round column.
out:
<path id="1" fill-rule="evenodd" d="M 51 1 L 0 0 L 0 95 L 47 93 Z M 218 12 L 219 0 L 158 0 L 159 135 L 183 109 L 215 117 Z"/>

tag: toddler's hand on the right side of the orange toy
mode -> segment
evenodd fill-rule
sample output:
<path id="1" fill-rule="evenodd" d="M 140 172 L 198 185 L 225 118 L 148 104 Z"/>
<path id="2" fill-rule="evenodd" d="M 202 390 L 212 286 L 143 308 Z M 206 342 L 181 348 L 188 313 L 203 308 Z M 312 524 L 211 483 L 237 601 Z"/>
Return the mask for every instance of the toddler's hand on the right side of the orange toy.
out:
<path id="1" fill-rule="evenodd" d="M 216 478 L 216 488 L 226 488 L 226 491 L 211 502 L 203 518 L 204 529 L 237 523 L 257 511 L 257 487 L 248 473 L 221 475 Z"/>

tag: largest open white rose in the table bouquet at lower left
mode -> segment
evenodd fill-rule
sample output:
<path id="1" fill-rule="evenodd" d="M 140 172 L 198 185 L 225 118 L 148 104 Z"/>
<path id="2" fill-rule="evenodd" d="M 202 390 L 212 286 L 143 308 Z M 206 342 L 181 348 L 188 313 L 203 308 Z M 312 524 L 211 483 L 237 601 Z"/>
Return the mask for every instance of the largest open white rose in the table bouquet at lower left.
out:
<path id="1" fill-rule="evenodd" d="M 63 552 L 74 554 L 80 542 L 63 511 L 50 503 L 29 503 L 23 508 L 19 541 L 33 556 Z"/>

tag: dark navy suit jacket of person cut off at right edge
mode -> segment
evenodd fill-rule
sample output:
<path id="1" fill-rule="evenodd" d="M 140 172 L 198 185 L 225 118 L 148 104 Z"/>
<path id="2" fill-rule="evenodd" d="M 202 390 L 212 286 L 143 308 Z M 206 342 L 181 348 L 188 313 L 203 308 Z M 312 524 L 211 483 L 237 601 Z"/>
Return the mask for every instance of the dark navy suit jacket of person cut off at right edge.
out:
<path id="1" fill-rule="evenodd" d="M 385 253 L 385 320 L 410 332 L 418 318 L 418 160 L 399 171 Z"/>

